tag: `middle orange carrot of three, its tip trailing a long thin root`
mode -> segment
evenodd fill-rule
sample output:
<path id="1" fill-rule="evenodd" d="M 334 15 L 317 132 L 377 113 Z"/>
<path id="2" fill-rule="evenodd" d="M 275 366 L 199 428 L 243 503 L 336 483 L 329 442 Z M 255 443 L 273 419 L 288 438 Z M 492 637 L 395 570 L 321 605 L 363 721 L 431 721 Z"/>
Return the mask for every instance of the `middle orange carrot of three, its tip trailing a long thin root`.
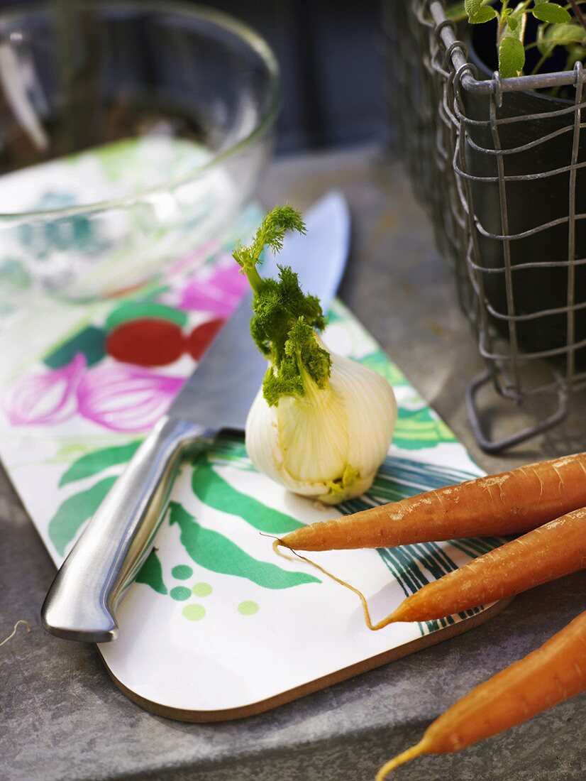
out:
<path id="1" fill-rule="evenodd" d="M 396 621 L 441 619 L 511 597 L 584 567 L 586 508 L 581 508 L 428 583 L 371 629 L 382 629 Z"/>

